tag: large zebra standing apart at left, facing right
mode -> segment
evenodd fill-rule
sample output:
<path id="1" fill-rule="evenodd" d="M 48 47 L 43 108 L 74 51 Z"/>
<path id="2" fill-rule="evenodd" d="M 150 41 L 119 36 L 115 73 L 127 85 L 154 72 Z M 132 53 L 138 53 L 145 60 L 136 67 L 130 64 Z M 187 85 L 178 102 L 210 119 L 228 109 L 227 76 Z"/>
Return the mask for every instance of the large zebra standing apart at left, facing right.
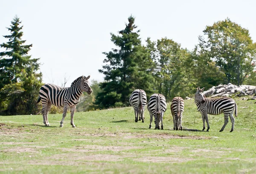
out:
<path id="1" fill-rule="evenodd" d="M 46 126 L 50 125 L 48 122 L 48 112 L 53 104 L 58 107 L 64 107 L 60 127 L 63 127 L 67 109 L 70 107 L 70 124 L 73 128 L 76 128 L 73 121 L 76 105 L 79 103 L 80 97 L 84 91 L 88 94 L 93 92 L 90 88 L 89 78 L 90 75 L 88 77 L 82 75 L 72 82 L 71 87 L 59 87 L 55 84 L 45 84 L 40 88 L 37 103 L 42 100 L 41 113 L 43 114 L 44 124 Z"/>

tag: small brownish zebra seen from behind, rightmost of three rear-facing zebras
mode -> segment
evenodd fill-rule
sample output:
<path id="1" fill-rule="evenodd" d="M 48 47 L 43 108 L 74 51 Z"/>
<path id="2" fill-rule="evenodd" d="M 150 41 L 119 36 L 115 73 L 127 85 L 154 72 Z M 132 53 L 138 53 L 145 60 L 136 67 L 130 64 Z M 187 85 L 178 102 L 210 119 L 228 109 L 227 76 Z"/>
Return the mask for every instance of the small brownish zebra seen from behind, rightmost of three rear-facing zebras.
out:
<path id="1" fill-rule="evenodd" d="M 184 100 L 181 97 L 175 97 L 172 99 L 171 112 L 173 117 L 173 130 L 182 131 L 182 114 L 184 111 Z"/>

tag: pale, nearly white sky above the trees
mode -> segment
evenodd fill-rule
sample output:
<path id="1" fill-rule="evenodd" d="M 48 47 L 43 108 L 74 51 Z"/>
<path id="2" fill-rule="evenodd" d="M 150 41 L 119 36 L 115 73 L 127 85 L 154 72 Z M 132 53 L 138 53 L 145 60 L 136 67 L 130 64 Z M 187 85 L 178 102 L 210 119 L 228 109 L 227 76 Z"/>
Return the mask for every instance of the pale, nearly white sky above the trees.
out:
<path id="1" fill-rule="evenodd" d="M 131 14 L 143 42 L 167 37 L 192 50 L 207 25 L 227 17 L 256 41 L 254 0 L 0 0 L 0 44 L 17 15 L 22 39 L 33 44 L 29 55 L 41 58 L 44 83 L 61 85 L 66 76 L 67 87 L 81 75 L 103 81 L 102 52 L 114 48 L 110 33 L 124 29 Z"/>

